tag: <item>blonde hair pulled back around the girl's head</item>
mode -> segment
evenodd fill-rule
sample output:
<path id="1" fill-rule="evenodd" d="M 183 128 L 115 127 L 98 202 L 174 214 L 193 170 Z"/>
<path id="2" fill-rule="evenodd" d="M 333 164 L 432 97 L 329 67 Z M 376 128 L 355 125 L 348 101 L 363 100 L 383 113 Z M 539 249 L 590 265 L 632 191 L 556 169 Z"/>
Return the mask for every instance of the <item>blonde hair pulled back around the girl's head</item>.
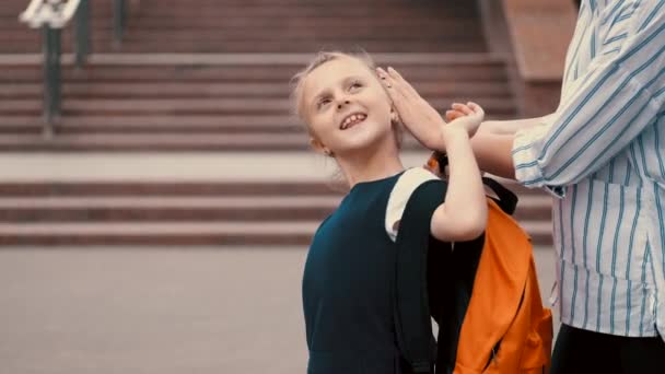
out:
<path id="1" fill-rule="evenodd" d="M 365 51 L 357 52 L 357 54 L 347 54 L 342 51 L 319 51 L 312 59 L 312 61 L 307 65 L 307 67 L 293 75 L 291 79 L 291 102 L 293 103 L 294 115 L 300 118 L 300 120 L 305 125 L 305 129 L 310 133 L 310 136 L 314 136 L 310 129 L 310 125 L 307 124 L 307 118 L 305 117 L 303 109 L 303 90 L 304 82 L 307 75 L 316 70 L 318 67 L 323 66 L 326 62 L 343 59 L 343 58 L 352 58 L 355 59 L 370 69 L 370 71 L 375 74 L 376 65 L 372 57 Z M 377 78 L 378 79 L 378 78 Z M 395 141 L 397 142 L 397 148 L 401 148 L 402 140 L 402 127 L 399 120 L 393 121 L 393 131 L 395 132 Z"/>

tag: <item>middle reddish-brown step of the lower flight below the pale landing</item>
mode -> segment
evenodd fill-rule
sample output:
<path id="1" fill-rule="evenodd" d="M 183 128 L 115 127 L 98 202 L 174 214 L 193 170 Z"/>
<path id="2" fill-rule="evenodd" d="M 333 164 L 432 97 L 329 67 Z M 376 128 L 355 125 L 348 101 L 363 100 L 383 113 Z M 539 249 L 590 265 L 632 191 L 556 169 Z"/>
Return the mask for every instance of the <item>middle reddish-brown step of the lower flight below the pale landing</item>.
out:
<path id="1" fill-rule="evenodd" d="M 322 221 L 340 195 L 0 198 L 0 222 Z M 515 219 L 549 221 L 551 199 L 522 197 Z"/>

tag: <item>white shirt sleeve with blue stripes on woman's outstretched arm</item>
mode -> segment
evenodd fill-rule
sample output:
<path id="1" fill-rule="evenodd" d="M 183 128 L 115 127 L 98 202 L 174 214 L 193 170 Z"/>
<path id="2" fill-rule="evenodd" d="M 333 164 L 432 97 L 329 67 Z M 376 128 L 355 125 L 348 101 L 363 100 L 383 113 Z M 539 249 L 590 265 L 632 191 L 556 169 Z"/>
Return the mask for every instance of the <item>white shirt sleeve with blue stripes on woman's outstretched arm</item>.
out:
<path id="1" fill-rule="evenodd" d="M 516 135 L 520 184 L 562 196 L 565 186 L 588 178 L 655 128 L 665 107 L 665 12 L 658 3 L 635 10 L 634 30 L 590 62 L 548 126 Z"/>

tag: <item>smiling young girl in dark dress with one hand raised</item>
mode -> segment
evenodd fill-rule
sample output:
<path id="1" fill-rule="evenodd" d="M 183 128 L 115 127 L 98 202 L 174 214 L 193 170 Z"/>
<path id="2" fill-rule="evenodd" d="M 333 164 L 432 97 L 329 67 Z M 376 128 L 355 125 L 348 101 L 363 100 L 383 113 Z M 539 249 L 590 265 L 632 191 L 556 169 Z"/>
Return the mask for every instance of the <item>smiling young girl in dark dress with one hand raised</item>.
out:
<path id="1" fill-rule="evenodd" d="M 320 52 L 294 82 L 296 113 L 307 125 L 312 147 L 335 159 L 350 188 L 316 231 L 305 264 L 307 372 L 405 373 L 392 290 L 399 221 L 411 200 L 436 204 L 430 224 L 436 241 L 482 234 L 487 202 L 469 137 L 483 112 L 471 103 L 457 104 L 450 116 L 456 119 L 447 125 L 438 114 L 427 118 L 439 128 L 434 151 L 447 153 L 450 176 L 447 185 L 434 180 L 419 188 L 436 177 L 422 167 L 405 171 L 399 160 L 396 108 L 408 110 L 413 96 L 390 98 L 395 79 L 375 70 L 368 58 Z"/>

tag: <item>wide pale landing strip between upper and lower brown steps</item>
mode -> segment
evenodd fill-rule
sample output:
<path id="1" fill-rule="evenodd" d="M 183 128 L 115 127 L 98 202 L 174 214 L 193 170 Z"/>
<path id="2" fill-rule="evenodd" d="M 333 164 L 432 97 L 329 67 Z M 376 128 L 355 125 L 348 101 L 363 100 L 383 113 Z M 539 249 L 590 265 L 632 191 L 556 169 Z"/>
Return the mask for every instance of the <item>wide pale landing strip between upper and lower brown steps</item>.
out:
<path id="1" fill-rule="evenodd" d="M 421 166 L 430 152 L 405 151 L 405 167 Z M 153 183 L 284 184 L 339 179 L 337 165 L 312 151 L 296 152 L 8 152 L 0 154 L 0 180 L 22 183 L 143 186 Z M 143 184 L 141 184 L 143 183 Z M 209 187 L 212 189 L 213 187 Z M 249 188 L 249 187 L 243 187 Z M 253 187 L 254 188 L 254 187 Z M 199 192 L 200 194 L 200 192 Z"/>

